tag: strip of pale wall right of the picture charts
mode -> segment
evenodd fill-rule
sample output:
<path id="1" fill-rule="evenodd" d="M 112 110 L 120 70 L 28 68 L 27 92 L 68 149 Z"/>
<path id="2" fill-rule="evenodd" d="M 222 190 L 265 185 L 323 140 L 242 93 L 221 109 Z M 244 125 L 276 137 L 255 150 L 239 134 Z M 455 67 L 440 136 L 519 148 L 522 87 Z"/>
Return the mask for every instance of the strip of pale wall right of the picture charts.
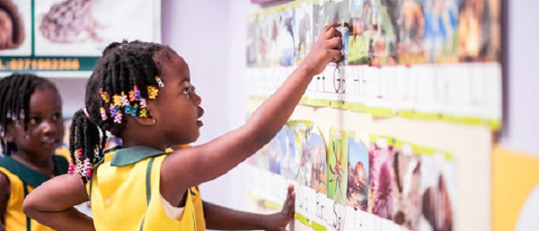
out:
<path id="1" fill-rule="evenodd" d="M 506 1 L 508 118 L 500 141 L 503 147 L 539 155 L 539 1 Z"/>

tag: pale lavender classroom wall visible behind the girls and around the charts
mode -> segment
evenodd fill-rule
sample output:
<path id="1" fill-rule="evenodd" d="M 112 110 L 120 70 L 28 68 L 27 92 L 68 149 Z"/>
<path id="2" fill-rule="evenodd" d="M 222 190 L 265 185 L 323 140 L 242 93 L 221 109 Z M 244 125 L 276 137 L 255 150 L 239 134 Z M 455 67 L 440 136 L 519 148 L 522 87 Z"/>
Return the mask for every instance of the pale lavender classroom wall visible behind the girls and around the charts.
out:
<path id="1" fill-rule="evenodd" d="M 206 142 L 245 120 L 244 16 L 259 7 L 247 0 L 163 0 L 163 42 L 187 59 L 193 83 L 203 97 L 199 142 Z M 508 1 L 507 120 L 500 144 L 531 155 L 539 155 L 539 77 L 535 70 L 539 54 L 539 14 L 535 0 Z M 71 115 L 84 106 L 86 79 L 52 78 L 64 99 L 64 113 Z M 246 185 L 236 169 L 202 186 L 205 199 L 242 209 Z"/>

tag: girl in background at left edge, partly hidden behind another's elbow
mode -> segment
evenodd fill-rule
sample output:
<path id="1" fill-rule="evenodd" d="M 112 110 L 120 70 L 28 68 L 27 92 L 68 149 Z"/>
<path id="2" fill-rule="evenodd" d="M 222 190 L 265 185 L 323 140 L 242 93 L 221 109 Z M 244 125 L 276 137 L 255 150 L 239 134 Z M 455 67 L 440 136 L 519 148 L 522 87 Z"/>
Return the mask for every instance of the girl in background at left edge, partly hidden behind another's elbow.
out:
<path id="1" fill-rule="evenodd" d="M 0 230 L 51 230 L 22 213 L 22 200 L 51 176 L 67 173 L 66 158 L 53 155 L 63 136 L 54 84 L 21 74 L 0 80 Z"/>

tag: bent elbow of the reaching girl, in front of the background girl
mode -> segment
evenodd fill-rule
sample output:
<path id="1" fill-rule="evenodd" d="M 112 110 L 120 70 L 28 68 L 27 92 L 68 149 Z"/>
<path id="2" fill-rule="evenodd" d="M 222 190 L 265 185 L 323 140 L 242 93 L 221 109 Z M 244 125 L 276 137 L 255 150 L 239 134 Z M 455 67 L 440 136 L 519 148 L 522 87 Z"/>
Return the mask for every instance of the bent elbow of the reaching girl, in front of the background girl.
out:
<path id="1" fill-rule="evenodd" d="M 63 174 L 32 191 L 24 200 L 22 210 L 30 218 L 58 231 L 95 230 L 92 218 L 74 208 L 88 201 L 86 188 L 79 174 Z"/>

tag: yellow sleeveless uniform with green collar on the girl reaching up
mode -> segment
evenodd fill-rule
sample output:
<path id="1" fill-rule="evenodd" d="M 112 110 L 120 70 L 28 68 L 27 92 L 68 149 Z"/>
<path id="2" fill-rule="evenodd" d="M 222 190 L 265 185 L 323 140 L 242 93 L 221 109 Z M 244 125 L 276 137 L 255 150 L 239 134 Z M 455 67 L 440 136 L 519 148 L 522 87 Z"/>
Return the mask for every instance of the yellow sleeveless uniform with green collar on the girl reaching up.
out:
<path id="1" fill-rule="evenodd" d="M 102 230 L 206 230 L 198 187 L 187 193 L 183 214 L 170 218 L 159 191 L 166 155 L 152 147 L 107 152 L 87 184 L 93 224 Z"/>

